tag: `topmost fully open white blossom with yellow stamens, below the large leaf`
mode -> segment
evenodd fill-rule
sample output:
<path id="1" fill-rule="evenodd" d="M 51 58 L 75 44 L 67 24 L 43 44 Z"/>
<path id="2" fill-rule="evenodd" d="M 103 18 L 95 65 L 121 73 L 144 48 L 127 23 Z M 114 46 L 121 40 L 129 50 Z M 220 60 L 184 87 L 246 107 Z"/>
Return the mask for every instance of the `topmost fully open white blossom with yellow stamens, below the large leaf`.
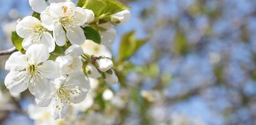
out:
<path id="1" fill-rule="evenodd" d="M 51 3 L 46 11 L 41 12 L 41 20 L 51 27 L 58 46 L 66 44 L 66 37 L 71 44 L 78 45 L 86 39 L 81 26 L 88 20 L 87 12 L 73 2 Z"/>

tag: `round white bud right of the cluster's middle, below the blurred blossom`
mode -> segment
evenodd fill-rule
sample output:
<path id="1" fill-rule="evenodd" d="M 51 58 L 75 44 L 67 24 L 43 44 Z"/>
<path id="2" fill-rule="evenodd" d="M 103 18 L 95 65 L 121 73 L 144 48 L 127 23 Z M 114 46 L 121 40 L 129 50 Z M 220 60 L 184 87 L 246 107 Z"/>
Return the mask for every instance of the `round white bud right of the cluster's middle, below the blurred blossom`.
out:
<path id="1" fill-rule="evenodd" d="M 110 58 L 100 58 L 96 60 L 96 65 L 100 71 L 106 72 L 113 67 L 113 62 Z"/>

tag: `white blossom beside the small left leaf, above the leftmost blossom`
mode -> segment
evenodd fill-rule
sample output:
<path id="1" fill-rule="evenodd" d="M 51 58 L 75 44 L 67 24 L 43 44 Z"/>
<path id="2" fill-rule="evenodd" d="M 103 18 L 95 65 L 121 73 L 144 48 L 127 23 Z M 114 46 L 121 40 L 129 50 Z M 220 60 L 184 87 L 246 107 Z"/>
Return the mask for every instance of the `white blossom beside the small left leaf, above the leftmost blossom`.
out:
<path id="1" fill-rule="evenodd" d="M 25 50 L 32 44 L 44 44 L 50 53 L 55 49 L 53 36 L 51 36 L 48 29 L 36 17 L 24 17 L 18 22 L 16 32 L 20 37 L 24 38 L 22 45 Z"/>

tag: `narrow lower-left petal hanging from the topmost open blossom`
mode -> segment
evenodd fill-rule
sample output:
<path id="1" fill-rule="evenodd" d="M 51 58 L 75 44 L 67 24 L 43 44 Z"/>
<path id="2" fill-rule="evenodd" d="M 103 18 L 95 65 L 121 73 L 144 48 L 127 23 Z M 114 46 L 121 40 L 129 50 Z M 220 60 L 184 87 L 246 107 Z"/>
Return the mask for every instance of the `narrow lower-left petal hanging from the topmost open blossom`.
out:
<path id="1" fill-rule="evenodd" d="M 64 46 L 66 44 L 66 34 L 63 27 L 56 22 L 53 29 L 53 38 L 58 46 Z"/>

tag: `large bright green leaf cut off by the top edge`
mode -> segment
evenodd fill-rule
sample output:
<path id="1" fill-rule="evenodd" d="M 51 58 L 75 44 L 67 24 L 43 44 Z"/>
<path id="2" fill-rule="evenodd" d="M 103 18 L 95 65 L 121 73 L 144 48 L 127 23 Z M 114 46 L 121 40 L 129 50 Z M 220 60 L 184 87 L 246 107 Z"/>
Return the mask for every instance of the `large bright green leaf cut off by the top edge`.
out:
<path id="1" fill-rule="evenodd" d="M 91 9 L 95 13 L 95 17 L 100 19 L 115 14 L 116 12 L 130 9 L 118 0 L 86 0 L 78 3 L 79 5 L 84 3 L 83 8 Z"/>

